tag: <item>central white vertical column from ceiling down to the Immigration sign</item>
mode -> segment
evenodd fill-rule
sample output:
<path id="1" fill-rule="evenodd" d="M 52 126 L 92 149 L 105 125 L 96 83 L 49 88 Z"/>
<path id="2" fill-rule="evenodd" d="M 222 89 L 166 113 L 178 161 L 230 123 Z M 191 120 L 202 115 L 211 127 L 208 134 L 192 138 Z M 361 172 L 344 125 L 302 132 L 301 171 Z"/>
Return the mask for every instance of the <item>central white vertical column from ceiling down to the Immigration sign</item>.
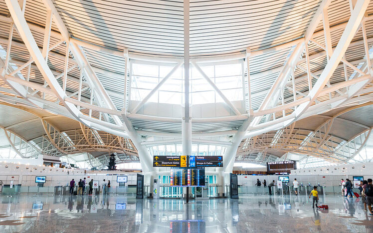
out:
<path id="1" fill-rule="evenodd" d="M 185 105 L 182 123 L 183 155 L 191 155 L 191 116 L 189 112 L 189 0 L 184 0 L 184 87 Z"/>

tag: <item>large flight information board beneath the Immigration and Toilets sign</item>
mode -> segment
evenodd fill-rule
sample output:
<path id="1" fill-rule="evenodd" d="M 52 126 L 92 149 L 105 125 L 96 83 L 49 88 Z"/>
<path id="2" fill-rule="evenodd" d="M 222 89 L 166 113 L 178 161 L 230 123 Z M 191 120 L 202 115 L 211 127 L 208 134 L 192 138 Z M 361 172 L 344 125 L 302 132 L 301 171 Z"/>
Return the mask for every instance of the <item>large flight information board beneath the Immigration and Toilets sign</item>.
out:
<path id="1" fill-rule="evenodd" d="M 204 168 L 171 169 L 170 185 L 174 187 L 204 187 Z"/>

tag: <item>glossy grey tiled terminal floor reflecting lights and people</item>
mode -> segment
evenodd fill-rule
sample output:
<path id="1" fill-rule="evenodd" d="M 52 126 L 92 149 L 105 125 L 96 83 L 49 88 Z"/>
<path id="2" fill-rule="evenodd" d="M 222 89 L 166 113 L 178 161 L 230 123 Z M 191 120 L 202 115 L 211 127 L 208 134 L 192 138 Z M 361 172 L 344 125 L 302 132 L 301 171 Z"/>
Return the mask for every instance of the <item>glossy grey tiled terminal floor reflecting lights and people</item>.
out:
<path id="1" fill-rule="evenodd" d="M 0 196 L 0 232 L 372 233 L 361 199 L 240 196 L 239 200 L 136 200 L 134 197 Z M 39 210 L 38 210 L 39 209 Z"/>

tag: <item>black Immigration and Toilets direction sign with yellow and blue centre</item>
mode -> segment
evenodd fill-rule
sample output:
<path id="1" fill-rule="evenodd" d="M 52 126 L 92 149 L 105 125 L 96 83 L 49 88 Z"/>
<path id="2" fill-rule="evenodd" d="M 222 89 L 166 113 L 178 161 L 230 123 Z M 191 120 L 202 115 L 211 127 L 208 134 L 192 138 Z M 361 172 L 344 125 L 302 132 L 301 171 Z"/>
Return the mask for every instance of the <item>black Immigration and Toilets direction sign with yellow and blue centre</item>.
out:
<path id="1" fill-rule="evenodd" d="M 153 156 L 153 167 L 222 167 L 222 156 Z"/>

